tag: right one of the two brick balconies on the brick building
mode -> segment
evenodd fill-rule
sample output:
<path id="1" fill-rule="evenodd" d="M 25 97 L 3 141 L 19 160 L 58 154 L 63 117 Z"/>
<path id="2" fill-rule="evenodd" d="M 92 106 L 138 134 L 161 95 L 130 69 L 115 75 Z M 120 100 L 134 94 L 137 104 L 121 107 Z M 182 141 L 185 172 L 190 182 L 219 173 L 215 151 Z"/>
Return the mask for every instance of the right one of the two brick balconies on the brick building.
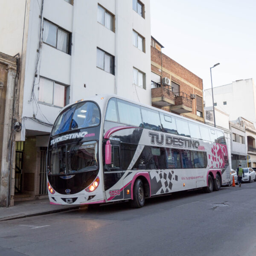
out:
<path id="1" fill-rule="evenodd" d="M 170 107 L 170 110 L 180 114 L 192 112 L 192 99 L 186 93 L 175 93 L 175 106 Z"/>

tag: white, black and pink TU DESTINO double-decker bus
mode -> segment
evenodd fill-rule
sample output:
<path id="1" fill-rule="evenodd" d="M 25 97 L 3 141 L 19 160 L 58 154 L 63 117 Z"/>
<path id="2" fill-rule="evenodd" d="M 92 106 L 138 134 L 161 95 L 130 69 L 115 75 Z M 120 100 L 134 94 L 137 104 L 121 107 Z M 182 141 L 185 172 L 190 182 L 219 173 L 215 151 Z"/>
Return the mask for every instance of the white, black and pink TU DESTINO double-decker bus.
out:
<path id="1" fill-rule="evenodd" d="M 47 151 L 51 204 L 101 204 L 230 181 L 223 131 L 116 95 L 63 108 Z"/>

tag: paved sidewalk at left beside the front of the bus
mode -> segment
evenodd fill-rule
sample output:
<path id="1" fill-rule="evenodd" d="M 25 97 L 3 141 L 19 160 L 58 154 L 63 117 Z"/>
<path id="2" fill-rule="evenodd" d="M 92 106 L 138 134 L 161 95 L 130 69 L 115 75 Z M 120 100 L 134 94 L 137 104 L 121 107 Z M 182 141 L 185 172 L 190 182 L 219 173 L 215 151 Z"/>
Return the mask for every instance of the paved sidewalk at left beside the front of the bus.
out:
<path id="1" fill-rule="evenodd" d="M 25 218 L 36 215 L 63 212 L 71 209 L 79 209 L 85 206 L 69 206 L 50 204 L 49 199 L 38 199 L 30 201 L 17 201 L 14 206 L 0 207 L 0 221 Z"/>

